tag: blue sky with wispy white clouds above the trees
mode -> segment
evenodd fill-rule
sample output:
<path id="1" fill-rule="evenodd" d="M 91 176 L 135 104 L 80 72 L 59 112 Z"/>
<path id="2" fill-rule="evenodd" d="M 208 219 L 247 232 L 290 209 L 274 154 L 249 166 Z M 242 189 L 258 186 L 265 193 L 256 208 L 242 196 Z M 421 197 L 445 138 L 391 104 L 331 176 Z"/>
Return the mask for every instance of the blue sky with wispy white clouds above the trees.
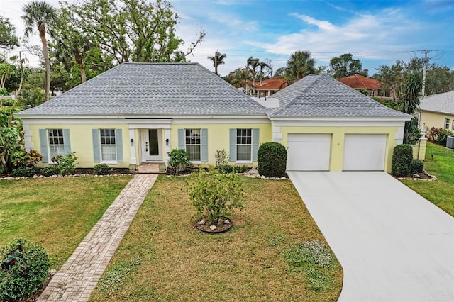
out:
<path id="1" fill-rule="evenodd" d="M 46 0 L 56 8 L 58 0 Z M 75 0 L 69 0 L 74 2 Z M 22 6 L 26 0 L 0 0 L 0 14 L 23 36 Z M 227 55 L 218 73 L 245 67 L 248 57 L 270 59 L 274 71 L 285 67 L 292 52 L 309 50 L 316 66 L 351 53 L 369 75 L 396 60 L 409 62 L 428 51 L 430 63 L 454 69 L 453 0 L 173 0 L 179 16 L 177 35 L 186 44 L 206 33 L 191 62 L 214 70 L 207 57 Z M 40 45 L 37 36 L 31 44 Z M 187 50 L 187 45 L 182 46 Z M 18 52 L 15 50 L 14 52 Z M 26 50 L 23 50 L 26 53 Z M 27 55 L 29 64 L 38 58 Z"/>

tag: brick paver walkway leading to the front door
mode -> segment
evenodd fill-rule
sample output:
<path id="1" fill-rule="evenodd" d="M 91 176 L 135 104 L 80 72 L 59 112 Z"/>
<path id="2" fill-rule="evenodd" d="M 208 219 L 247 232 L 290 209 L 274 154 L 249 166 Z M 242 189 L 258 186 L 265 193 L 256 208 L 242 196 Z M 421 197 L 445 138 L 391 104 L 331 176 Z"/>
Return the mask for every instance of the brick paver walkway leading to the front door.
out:
<path id="1" fill-rule="evenodd" d="M 88 301 L 157 174 L 136 174 L 50 280 L 38 301 Z"/>

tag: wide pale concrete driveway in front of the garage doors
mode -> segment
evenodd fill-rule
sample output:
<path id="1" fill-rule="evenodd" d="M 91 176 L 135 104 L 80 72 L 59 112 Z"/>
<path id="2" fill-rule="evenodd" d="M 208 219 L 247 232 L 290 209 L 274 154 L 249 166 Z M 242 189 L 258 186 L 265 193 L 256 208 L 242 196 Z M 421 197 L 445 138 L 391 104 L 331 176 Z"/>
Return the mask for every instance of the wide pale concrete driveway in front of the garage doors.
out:
<path id="1" fill-rule="evenodd" d="M 339 301 L 454 301 L 454 218 L 384 172 L 288 172 L 343 267 Z"/>

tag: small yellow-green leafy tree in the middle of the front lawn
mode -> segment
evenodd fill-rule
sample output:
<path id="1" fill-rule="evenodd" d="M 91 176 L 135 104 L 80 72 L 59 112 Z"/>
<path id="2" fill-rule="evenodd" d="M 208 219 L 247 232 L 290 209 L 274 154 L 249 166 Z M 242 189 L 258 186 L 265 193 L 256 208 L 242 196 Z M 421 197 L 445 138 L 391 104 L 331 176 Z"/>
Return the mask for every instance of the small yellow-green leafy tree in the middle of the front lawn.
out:
<path id="1" fill-rule="evenodd" d="M 211 225 L 218 225 L 221 217 L 235 208 L 243 208 L 243 186 L 239 175 L 221 174 L 215 169 L 192 174 L 186 184 L 189 199 L 197 216 L 206 217 Z"/>

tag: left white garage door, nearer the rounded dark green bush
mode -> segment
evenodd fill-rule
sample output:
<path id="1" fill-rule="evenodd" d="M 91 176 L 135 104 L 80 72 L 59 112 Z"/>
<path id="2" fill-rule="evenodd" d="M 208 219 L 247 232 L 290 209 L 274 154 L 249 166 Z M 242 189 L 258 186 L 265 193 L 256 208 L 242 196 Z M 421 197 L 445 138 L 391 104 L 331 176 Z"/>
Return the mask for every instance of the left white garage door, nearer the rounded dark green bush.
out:
<path id="1" fill-rule="evenodd" d="M 289 134 L 287 170 L 329 171 L 331 134 Z"/>

